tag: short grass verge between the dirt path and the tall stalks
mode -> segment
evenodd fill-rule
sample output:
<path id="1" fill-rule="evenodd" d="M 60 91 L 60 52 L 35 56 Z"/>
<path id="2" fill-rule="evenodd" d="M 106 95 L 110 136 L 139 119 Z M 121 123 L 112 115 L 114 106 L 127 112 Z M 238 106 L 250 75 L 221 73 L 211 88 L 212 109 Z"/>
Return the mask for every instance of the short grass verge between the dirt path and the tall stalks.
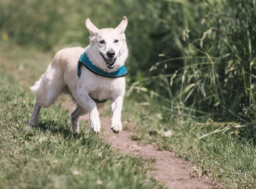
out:
<path id="1" fill-rule="evenodd" d="M 197 164 L 196 176 L 210 175 L 223 182 L 225 188 L 256 188 L 256 147 L 252 140 L 244 140 L 237 133 L 244 127 L 238 123 L 200 123 L 193 119 L 171 123 L 155 113 L 160 107 L 154 103 L 140 113 L 139 127 L 132 140 L 174 151 L 180 158 Z M 164 136 L 169 130 L 173 134 Z"/>

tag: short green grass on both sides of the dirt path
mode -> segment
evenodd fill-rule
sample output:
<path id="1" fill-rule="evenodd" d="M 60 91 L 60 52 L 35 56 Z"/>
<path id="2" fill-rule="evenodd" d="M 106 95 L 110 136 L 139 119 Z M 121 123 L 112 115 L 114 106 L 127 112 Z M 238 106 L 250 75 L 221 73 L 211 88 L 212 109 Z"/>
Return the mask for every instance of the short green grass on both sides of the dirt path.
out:
<path id="1" fill-rule="evenodd" d="M 28 127 L 35 97 L 27 87 L 44 72 L 52 55 L 17 46 L 12 53 L 12 47 L 2 45 L 0 51 L 5 60 L 0 74 L 0 188 L 162 188 L 147 175 L 152 161 L 112 151 L 88 125 L 73 134 L 61 103 L 43 109 L 40 124 Z M 197 177 L 212 175 L 226 188 L 256 188 L 255 145 L 238 137 L 237 123 L 201 123 L 178 118 L 175 112 L 179 121 L 170 122 L 158 103 L 143 93 L 126 97 L 122 119 L 137 124 L 133 140 L 175 151 L 197 164 Z M 231 129 L 220 131 L 227 126 Z M 170 130 L 173 134 L 165 137 Z"/>

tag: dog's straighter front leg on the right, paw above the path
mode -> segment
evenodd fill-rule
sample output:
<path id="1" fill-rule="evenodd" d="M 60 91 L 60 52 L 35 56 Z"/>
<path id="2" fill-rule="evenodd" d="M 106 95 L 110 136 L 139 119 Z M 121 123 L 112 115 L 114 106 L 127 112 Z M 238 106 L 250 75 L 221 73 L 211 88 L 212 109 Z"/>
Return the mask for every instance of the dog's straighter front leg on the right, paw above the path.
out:
<path id="1" fill-rule="evenodd" d="M 111 120 L 111 129 L 113 132 L 121 132 L 122 131 L 122 122 L 121 122 L 121 111 L 122 111 L 122 103 L 124 97 L 118 96 L 112 99 L 111 108 L 113 112 L 113 117 Z"/>

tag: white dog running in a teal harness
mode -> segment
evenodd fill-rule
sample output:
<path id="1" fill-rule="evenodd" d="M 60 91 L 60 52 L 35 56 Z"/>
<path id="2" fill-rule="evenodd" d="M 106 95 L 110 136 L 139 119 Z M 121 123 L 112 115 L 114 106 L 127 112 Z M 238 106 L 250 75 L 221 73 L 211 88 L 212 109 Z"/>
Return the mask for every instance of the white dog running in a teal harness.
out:
<path id="1" fill-rule="evenodd" d="M 90 19 L 85 25 L 91 34 L 90 44 L 82 47 L 62 49 L 41 78 L 31 86 L 36 94 L 36 103 L 29 125 L 38 123 L 40 107 L 48 108 L 65 92 L 72 95 L 76 109 L 71 114 L 72 128 L 79 132 L 78 118 L 89 113 L 92 131 L 100 132 L 97 107 L 111 99 L 113 117 L 111 129 L 122 131 L 121 110 L 125 92 L 128 49 L 124 31 L 127 26 L 124 16 L 115 28 L 98 29 Z"/>

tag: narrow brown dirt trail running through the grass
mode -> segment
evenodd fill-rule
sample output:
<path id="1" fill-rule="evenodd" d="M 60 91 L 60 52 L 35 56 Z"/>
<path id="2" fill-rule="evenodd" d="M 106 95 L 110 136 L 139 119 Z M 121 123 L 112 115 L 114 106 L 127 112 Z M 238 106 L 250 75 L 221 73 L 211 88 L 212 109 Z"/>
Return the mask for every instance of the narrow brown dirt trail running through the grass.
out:
<path id="1" fill-rule="evenodd" d="M 68 107 L 70 108 L 70 105 Z M 88 121 L 88 116 L 82 116 L 80 120 Z M 221 184 L 214 183 L 210 177 L 193 177 L 195 175 L 193 172 L 197 169 L 196 166 L 178 158 L 175 153 L 165 150 L 159 151 L 154 145 L 138 145 L 137 141 L 130 138 L 134 132 L 124 130 L 119 134 L 114 134 L 110 129 L 111 118 L 101 116 L 100 121 L 102 129 L 99 136 L 104 138 L 113 148 L 119 149 L 121 153 L 134 153 L 156 160 L 156 170 L 150 171 L 150 175 L 156 180 L 163 181 L 165 188 L 223 188 Z M 129 128 L 128 130 L 134 126 L 128 122 L 122 124 L 124 128 Z"/>

